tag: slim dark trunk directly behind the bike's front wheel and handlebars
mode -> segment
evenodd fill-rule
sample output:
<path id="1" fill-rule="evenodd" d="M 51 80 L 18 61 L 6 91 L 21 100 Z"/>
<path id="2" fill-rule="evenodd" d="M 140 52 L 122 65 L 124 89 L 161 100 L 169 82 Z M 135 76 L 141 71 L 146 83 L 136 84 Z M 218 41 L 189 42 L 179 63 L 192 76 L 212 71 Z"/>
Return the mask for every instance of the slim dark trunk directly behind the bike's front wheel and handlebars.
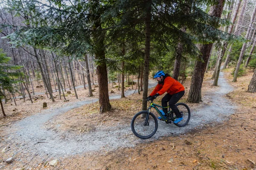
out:
<path id="1" fill-rule="evenodd" d="M 150 56 L 150 34 L 151 34 L 151 5 L 152 0 L 144 0 L 145 3 L 145 58 L 144 58 L 144 83 L 143 83 L 143 99 L 142 110 L 147 110 L 148 97 L 148 72 L 149 72 L 149 56 Z"/>

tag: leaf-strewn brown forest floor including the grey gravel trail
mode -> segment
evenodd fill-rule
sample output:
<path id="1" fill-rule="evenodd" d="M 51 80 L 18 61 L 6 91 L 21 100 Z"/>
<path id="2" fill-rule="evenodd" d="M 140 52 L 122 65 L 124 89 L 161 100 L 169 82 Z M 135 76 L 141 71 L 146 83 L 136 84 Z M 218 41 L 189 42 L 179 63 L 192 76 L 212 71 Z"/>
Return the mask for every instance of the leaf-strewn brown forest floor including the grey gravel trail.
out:
<path id="1" fill-rule="evenodd" d="M 141 109 L 142 94 L 111 99 L 112 110 L 107 113 L 99 113 L 96 86 L 93 98 L 79 88 L 79 99 L 72 92 L 67 102 L 58 98 L 56 102 L 38 99 L 33 104 L 21 99 L 18 106 L 7 102 L 7 116 L 0 116 L 0 169 L 256 169 L 256 94 L 246 92 L 253 72 L 246 70 L 237 82 L 231 82 L 232 70 L 223 70 L 218 87 L 212 86 L 211 73 L 205 75 L 203 102 L 188 103 L 189 125 L 176 127 L 159 121 L 157 133 L 146 140 L 134 136 L 130 127 Z M 186 102 L 189 85 L 188 78 L 181 102 Z M 110 96 L 118 98 L 117 88 L 110 85 L 111 90 Z M 128 89 L 127 94 L 131 94 Z M 43 102 L 48 104 L 46 109 Z M 10 157 L 14 161 L 7 164 Z M 52 160 L 58 163 L 53 166 Z"/>

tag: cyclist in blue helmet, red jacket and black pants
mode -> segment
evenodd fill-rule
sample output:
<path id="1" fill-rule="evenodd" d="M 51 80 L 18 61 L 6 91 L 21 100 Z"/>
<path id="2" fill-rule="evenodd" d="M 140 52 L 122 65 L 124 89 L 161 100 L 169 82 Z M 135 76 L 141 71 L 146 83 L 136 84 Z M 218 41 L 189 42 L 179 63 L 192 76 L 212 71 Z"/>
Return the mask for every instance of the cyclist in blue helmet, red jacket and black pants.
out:
<path id="1" fill-rule="evenodd" d="M 147 100 L 155 99 L 157 96 L 167 92 L 167 94 L 162 99 L 162 106 L 167 107 L 167 103 L 169 102 L 169 106 L 172 111 L 174 111 L 177 118 L 174 123 L 182 121 L 183 117 L 175 104 L 185 94 L 184 86 L 177 80 L 170 77 L 168 74 L 165 74 L 163 71 L 157 71 L 157 73 L 154 75 L 154 78 L 158 81 L 158 84 L 152 93 L 148 96 Z M 167 111 L 167 108 L 163 108 L 163 116 L 167 113 Z M 159 116 L 158 119 L 162 119 L 162 117 Z"/>

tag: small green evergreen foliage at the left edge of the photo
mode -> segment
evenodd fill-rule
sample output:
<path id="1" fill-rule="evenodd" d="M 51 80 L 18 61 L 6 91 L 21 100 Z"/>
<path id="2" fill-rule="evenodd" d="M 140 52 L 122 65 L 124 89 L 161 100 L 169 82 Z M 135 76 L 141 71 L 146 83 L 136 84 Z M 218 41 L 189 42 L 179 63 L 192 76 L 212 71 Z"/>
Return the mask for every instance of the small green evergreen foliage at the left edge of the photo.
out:
<path id="1" fill-rule="evenodd" d="M 6 57 L 6 54 L 3 53 L 3 50 L 0 49 L 0 86 L 2 90 L 8 90 L 11 93 L 14 92 L 14 84 L 19 82 L 17 77 L 22 76 L 20 72 L 15 72 L 22 66 L 8 65 L 8 62 L 11 60 L 10 57 Z M 3 92 L 0 89 L 0 98 L 3 98 Z"/>

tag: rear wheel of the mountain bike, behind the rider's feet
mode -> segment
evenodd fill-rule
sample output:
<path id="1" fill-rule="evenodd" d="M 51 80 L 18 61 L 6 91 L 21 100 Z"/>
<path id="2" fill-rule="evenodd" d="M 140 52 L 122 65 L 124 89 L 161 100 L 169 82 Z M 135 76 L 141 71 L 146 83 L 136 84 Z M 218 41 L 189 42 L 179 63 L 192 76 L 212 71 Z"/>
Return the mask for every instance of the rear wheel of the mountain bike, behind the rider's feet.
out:
<path id="1" fill-rule="evenodd" d="M 189 106 L 186 105 L 185 103 L 177 103 L 176 106 L 179 109 L 180 113 L 182 114 L 183 120 L 180 121 L 179 123 L 174 123 L 174 125 L 176 125 L 178 127 L 186 126 L 186 124 L 188 124 L 189 119 L 190 119 Z M 171 119 L 172 120 L 176 119 L 176 115 L 174 112 L 171 113 Z"/>

